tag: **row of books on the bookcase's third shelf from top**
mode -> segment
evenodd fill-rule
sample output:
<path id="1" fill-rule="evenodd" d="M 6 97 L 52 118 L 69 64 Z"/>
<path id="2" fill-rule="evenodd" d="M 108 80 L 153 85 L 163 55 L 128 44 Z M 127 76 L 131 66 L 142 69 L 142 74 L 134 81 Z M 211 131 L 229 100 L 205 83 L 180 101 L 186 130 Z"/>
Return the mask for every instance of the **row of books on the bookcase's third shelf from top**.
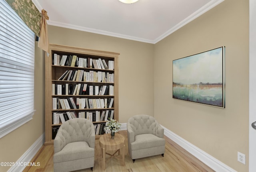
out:
<path id="1" fill-rule="evenodd" d="M 94 86 L 88 84 L 52 84 L 52 95 L 110 95 L 114 96 L 113 85 Z"/>

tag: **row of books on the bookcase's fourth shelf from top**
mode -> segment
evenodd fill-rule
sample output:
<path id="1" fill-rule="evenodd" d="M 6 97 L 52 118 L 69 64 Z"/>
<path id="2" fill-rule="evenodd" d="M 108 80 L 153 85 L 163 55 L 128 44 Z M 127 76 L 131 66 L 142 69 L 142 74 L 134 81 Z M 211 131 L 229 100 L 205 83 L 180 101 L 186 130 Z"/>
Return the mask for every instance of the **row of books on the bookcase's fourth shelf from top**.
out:
<path id="1" fill-rule="evenodd" d="M 97 109 L 112 108 L 114 98 L 52 98 L 52 109 Z"/>

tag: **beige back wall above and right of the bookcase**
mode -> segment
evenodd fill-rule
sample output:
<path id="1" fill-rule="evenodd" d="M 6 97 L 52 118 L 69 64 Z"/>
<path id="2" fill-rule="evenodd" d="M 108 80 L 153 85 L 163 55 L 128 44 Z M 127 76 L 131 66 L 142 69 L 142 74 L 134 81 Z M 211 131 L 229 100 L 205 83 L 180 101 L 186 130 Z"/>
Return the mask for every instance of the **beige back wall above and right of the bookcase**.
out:
<path id="1" fill-rule="evenodd" d="M 49 42 L 118 52 L 119 122 L 135 114 L 154 115 L 154 45 L 49 26 Z"/>

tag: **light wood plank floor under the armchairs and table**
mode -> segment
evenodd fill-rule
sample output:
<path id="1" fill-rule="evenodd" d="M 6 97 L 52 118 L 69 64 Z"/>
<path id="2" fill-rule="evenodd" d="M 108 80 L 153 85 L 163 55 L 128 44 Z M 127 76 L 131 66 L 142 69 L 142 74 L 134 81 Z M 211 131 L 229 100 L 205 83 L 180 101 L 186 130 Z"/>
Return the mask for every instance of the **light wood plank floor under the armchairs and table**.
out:
<path id="1" fill-rule="evenodd" d="M 189 154 L 175 142 L 165 136 L 166 145 L 164 157 L 161 155 L 136 159 L 133 163 L 128 153 L 127 132 L 119 131 L 125 140 L 125 166 L 121 160 L 111 158 L 102 169 L 99 140 L 95 142 L 94 172 L 214 172 L 200 160 Z M 111 152 L 110 152 L 111 153 Z M 27 166 L 23 172 L 53 172 L 53 145 L 42 146 L 31 162 L 40 162 L 40 166 Z M 106 155 L 106 158 L 108 155 Z M 90 168 L 76 172 L 91 172 Z"/>

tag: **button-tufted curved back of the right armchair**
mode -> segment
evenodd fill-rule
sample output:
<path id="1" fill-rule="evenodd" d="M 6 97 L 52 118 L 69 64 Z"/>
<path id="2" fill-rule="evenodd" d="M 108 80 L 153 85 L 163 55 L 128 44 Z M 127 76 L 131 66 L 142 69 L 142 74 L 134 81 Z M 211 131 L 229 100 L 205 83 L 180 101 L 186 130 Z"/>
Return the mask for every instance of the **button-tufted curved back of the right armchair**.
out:
<path id="1" fill-rule="evenodd" d="M 154 134 L 159 136 L 158 122 L 154 117 L 148 115 L 136 115 L 128 120 L 127 126 L 134 131 L 134 136 L 138 134 Z M 128 128 L 127 128 L 128 129 Z M 163 136 L 159 136 L 163 138 Z"/>

